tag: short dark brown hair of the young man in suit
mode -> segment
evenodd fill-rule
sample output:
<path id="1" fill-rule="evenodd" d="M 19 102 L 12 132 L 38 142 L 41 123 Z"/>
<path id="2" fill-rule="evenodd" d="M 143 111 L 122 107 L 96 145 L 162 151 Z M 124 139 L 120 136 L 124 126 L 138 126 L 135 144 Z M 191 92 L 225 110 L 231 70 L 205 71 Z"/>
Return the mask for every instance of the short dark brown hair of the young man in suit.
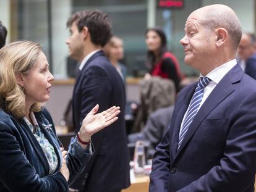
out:
<path id="1" fill-rule="evenodd" d="M 77 28 L 82 31 L 83 27 L 87 27 L 92 43 L 95 45 L 105 46 L 112 36 L 111 22 L 108 15 L 100 10 L 81 10 L 75 12 L 67 21 L 67 27 L 71 27 L 72 23 L 77 24 Z"/>

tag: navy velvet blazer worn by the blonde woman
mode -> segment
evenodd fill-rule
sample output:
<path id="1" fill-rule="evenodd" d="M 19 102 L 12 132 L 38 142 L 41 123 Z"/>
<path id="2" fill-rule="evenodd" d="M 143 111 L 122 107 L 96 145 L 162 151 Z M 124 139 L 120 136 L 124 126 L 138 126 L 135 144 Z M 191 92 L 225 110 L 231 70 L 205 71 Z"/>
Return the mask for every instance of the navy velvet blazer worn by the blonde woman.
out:
<path id="1" fill-rule="evenodd" d="M 35 112 L 41 131 L 54 147 L 58 168 L 49 175 L 49 164 L 43 149 L 23 119 L 15 119 L 0 109 L 0 191 L 68 191 L 66 179 L 59 172 L 62 165 L 61 143 L 56 136 L 51 115 L 44 108 Z M 92 152 L 73 141 L 67 156 L 69 183 L 90 160 Z"/>

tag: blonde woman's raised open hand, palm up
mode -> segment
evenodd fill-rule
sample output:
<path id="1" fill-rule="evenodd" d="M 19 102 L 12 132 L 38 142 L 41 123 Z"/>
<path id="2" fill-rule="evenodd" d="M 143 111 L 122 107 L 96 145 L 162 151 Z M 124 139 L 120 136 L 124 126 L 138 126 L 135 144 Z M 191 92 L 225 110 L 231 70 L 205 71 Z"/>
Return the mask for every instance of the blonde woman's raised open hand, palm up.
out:
<path id="1" fill-rule="evenodd" d="M 96 114 L 98 109 L 99 105 L 96 104 L 92 111 L 90 111 L 85 119 L 83 119 L 82 127 L 79 131 L 79 136 L 83 141 L 89 141 L 94 133 L 114 123 L 118 119 L 116 116 L 120 113 L 120 107 L 116 106 Z"/>

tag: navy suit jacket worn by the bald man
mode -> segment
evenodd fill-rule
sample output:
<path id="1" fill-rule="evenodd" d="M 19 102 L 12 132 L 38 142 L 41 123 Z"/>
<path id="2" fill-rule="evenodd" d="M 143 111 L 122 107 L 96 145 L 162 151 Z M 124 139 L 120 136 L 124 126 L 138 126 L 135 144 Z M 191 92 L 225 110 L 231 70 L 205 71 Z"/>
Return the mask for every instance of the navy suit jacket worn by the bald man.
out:
<path id="1" fill-rule="evenodd" d="M 177 150 L 196 83 L 177 96 L 168 133 L 157 146 L 150 191 L 254 191 L 256 81 L 239 65 L 216 85 Z"/>

